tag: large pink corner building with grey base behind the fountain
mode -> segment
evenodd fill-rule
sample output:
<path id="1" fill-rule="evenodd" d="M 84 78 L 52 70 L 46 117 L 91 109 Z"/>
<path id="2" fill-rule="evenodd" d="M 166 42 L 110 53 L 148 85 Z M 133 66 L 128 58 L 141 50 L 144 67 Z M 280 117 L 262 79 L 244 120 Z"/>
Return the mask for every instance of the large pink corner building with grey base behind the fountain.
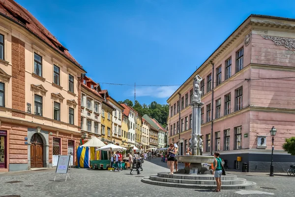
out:
<path id="1" fill-rule="evenodd" d="M 274 171 L 286 171 L 295 163 L 282 150 L 295 135 L 294 50 L 295 19 L 250 15 L 167 100 L 169 143 L 178 143 L 180 155 L 189 147 L 199 74 L 203 155 L 219 151 L 229 168 L 248 163 L 248 171 L 269 171 L 274 126 Z"/>

